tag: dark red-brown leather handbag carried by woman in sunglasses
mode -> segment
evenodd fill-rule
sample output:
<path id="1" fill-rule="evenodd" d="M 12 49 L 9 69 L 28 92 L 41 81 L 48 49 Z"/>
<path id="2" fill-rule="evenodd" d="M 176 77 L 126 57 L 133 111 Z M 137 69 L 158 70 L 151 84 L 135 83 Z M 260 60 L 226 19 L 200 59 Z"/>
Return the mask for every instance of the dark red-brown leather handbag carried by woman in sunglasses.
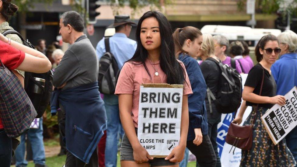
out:
<path id="1" fill-rule="evenodd" d="M 263 68 L 263 77 L 262 77 L 259 96 L 261 96 L 261 93 L 262 93 L 263 82 L 264 82 L 264 68 Z M 258 106 L 259 104 L 257 105 L 256 110 L 253 110 L 252 112 L 257 112 Z M 234 118 L 235 116 L 236 116 L 236 113 L 234 115 Z M 231 152 L 233 146 L 234 146 L 233 154 L 236 147 L 242 150 L 250 150 L 252 148 L 253 126 L 255 124 L 255 121 L 256 121 L 256 114 L 253 117 L 253 124 L 250 124 L 250 125 L 240 126 L 236 123 L 231 122 L 226 139 L 225 139 L 226 143 L 232 145 L 229 153 Z"/>

